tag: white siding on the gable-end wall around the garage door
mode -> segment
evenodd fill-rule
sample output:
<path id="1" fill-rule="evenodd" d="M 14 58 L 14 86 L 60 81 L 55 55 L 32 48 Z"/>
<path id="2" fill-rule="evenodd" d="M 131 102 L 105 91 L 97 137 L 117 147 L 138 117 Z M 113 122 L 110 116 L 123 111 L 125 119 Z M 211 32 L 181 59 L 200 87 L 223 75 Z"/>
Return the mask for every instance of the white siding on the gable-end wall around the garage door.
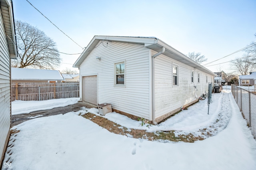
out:
<path id="1" fill-rule="evenodd" d="M 106 41 L 104 45 L 105 43 Z M 151 119 L 150 49 L 140 44 L 121 42 L 108 42 L 106 47 L 104 45 L 101 41 L 98 42 L 84 59 L 80 65 L 80 75 L 97 73 L 99 104 L 111 103 L 113 109 Z M 101 57 L 101 61 L 98 61 L 96 56 Z M 114 65 L 124 61 L 125 86 L 113 85 Z"/>

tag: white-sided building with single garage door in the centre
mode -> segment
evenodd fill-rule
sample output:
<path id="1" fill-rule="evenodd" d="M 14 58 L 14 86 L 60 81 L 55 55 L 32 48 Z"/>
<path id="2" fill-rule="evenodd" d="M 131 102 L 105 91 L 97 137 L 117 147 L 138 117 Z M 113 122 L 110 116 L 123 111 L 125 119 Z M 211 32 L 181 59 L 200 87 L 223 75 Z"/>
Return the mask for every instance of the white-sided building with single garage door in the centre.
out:
<path id="1" fill-rule="evenodd" d="M 154 37 L 94 36 L 73 67 L 82 101 L 155 124 L 196 102 L 215 75 Z"/>

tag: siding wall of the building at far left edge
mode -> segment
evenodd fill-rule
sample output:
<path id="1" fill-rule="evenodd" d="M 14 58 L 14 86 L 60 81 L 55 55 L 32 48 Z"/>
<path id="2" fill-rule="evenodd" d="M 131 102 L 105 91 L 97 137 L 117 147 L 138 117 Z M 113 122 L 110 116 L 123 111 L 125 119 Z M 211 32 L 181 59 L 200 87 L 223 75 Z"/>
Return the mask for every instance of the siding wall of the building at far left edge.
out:
<path id="1" fill-rule="evenodd" d="M 0 156 L 11 125 L 10 53 L 2 15 L 0 17 Z"/>

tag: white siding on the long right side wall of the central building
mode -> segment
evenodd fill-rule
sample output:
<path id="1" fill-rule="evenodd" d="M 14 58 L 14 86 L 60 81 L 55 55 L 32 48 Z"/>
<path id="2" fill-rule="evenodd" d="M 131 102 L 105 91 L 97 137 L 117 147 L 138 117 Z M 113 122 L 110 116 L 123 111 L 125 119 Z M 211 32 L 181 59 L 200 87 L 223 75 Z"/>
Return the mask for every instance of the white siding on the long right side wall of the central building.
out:
<path id="1" fill-rule="evenodd" d="M 156 51 L 152 51 L 152 54 L 155 53 Z M 156 118 L 196 100 L 196 97 L 200 97 L 202 93 L 208 90 L 206 84 L 191 83 L 191 70 L 194 68 L 165 55 L 156 57 L 154 63 Z M 178 86 L 172 86 L 172 65 L 178 65 Z M 200 81 L 204 80 L 206 81 L 206 74 L 201 72 Z"/>

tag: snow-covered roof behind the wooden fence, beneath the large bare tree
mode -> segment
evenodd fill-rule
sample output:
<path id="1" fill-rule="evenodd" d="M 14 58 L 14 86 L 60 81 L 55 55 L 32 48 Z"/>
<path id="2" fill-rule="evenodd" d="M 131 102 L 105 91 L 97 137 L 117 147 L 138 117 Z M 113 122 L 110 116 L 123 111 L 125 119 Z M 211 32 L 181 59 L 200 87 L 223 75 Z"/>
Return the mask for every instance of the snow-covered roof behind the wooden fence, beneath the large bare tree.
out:
<path id="1" fill-rule="evenodd" d="M 58 70 L 12 68 L 12 80 L 65 80 Z"/>

